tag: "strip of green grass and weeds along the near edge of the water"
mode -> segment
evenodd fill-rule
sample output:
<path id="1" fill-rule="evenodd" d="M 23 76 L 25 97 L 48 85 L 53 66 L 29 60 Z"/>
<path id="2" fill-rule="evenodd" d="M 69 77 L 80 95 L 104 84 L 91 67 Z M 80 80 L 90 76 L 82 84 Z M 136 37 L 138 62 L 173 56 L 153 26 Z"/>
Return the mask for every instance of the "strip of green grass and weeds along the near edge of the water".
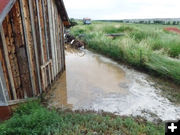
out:
<path id="1" fill-rule="evenodd" d="M 164 124 L 110 114 L 48 110 L 38 101 L 22 104 L 0 124 L 0 135 L 164 135 Z"/>

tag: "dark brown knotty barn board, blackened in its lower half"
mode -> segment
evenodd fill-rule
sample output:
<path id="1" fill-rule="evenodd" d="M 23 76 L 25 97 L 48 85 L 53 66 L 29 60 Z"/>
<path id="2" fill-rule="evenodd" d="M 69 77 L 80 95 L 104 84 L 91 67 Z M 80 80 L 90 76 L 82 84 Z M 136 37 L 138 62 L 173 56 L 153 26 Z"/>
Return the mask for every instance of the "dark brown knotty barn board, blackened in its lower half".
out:
<path id="1" fill-rule="evenodd" d="M 21 79 L 21 85 L 24 95 L 27 95 L 28 91 L 32 90 L 30 72 L 28 67 L 28 58 L 26 54 L 26 46 L 24 41 L 24 33 L 22 20 L 20 15 L 19 2 L 17 1 L 10 11 L 12 30 L 14 35 L 14 44 L 17 54 L 17 62 L 19 65 L 19 73 Z"/>

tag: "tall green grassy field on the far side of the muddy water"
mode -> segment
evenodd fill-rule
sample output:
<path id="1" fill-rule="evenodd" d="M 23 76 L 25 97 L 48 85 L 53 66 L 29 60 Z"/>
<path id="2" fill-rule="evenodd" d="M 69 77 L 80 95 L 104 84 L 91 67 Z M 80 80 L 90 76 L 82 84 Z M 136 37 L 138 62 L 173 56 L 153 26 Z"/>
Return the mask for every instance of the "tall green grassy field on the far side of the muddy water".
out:
<path id="1" fill-rule="evenodd" d="M 167 32 L 165 27 L 172 26 L 93 22 L 71 28 L 71 34 L 90 49 L 180 84 L 180 34 Z M 111 33 L 124 36 L 106 36 Z"/>

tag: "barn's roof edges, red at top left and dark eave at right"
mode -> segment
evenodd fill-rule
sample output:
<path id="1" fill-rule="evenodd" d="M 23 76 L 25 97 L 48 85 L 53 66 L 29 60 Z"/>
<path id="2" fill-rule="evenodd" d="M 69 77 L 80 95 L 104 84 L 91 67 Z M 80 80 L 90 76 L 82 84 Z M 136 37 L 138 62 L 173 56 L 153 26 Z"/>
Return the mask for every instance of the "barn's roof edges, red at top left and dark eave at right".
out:
<path id="1" fill-rule="evenodd" d="M 0 25 L 3 22 L 6 15 L 9 13 L 11 8 L 13 7 L 16 0 L 0 0 Z M 58 12 L 61 15 L 62 21 L 65 26 L 70 25 L 69 18 L 66 12 L 66 8 L 64 6 L 63 0 L 55 1 L 58 6 Z"/>

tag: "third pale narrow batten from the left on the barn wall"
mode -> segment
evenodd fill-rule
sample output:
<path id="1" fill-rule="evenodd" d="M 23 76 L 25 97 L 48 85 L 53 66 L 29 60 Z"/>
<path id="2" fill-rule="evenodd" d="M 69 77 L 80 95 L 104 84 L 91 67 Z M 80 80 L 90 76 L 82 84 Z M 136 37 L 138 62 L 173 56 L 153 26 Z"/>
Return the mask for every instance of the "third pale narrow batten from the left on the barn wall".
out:
<path id="1" fill-rule="evenodd" d="M 40 78 L 40 66 L 39 66 L 39 59 L 38 59 L 38 50 L 37 50 L 37 39 L 36 39 L 36 31 L 35 31 L 35 20 L 34 20 L 34 12 L 33 12 L 33 4 L 31 0 L 29 2 L 29 10 L 30 10 L 30 17 L 31 17 L 31 28 L 32 28 L 32 35 L 33 35 L 33 43 L 34 43 L 34 52 L 35 52 L 35 59 L 36 59 L 36 70 L 38 76 L 38 84 L 40 93 L 42 93 L 42 86 L 41 86 L 41 78 Z"/>

